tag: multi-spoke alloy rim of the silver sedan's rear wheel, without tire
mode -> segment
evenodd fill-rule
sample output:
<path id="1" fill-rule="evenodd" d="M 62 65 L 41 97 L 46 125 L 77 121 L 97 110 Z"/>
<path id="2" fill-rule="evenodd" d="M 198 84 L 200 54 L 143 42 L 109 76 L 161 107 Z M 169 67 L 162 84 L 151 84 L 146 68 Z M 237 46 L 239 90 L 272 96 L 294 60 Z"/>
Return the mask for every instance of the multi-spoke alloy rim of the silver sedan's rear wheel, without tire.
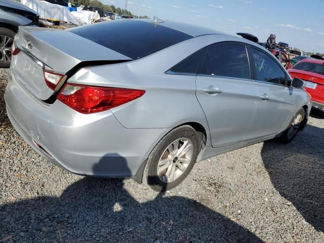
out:
<path id="1" fill-rule="evenodd" d="M 188 168 L 193 154 L 192 142 L 187 138 L 173 141 L 162 153 L 157 165 L 160 181 L 169 183 L 178 179 Z"/>

